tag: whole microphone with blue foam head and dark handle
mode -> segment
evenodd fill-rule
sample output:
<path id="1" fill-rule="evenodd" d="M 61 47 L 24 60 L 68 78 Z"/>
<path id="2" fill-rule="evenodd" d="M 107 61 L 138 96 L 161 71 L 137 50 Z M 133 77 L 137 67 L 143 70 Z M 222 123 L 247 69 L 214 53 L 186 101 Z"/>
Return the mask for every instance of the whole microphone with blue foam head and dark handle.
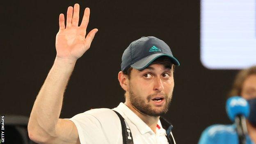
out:
<path id="1" fill-rule="evenodd" d="M 233 96 L 226 102 L 226 112 L 229 119 L 236 124 L 239 144 L 246 144 L 247 126 L 245 119 L 249 117 L 250 107 L 241 96 Z"/>

